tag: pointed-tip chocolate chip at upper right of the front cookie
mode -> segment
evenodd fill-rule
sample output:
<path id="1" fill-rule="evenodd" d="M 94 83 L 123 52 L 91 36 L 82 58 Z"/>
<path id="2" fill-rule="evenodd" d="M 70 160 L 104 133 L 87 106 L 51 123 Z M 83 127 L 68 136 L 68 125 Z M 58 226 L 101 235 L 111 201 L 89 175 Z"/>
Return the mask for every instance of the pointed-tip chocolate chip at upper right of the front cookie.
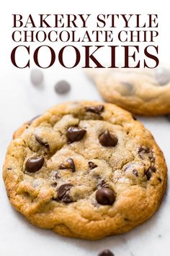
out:
<path id="1" fill-rule="evenodd" d="M 115 147 L 117 145 L 118 139 L 109 131 L 105 131 L 102 133 L 102 135 L 99 135 L 99 142 L 104 147 Z"/>

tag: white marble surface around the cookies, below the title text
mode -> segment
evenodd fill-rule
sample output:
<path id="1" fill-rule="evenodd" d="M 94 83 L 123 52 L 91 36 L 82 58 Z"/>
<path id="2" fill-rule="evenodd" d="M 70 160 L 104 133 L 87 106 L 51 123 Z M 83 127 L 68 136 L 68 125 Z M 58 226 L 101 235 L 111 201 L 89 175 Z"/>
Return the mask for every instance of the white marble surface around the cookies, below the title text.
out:
<path id="1" fill-rule="evenodd" d="M 0 161 L 4 161 L 6 147 L 12 133 L 24 121 L 41 114 L 46 108 L 67 100 L 100 100 L 94 85 L 79 69 L 46 70 L 44 88 L 34 88 L 30 83 L 30 71 L 6 68 L 0 74 Z M 72 90 L 66 96 L 58 96 L 53 85 L 60 79 L 71 82 Z M 170 121 L 164 117 L 140 118 L 151 130 L 158 145 L 164 151 L 170 167 Z M 0 255 L 1 256 L 97 256 L 109 248 L 115 256 L 169 256 L 170 195 L 169 189 L 161 208 L 151 218 L 127 234 L 111 236 L 98 242 L 69 239 L 32 226 L 10 205 L 0 179 Z"/>

